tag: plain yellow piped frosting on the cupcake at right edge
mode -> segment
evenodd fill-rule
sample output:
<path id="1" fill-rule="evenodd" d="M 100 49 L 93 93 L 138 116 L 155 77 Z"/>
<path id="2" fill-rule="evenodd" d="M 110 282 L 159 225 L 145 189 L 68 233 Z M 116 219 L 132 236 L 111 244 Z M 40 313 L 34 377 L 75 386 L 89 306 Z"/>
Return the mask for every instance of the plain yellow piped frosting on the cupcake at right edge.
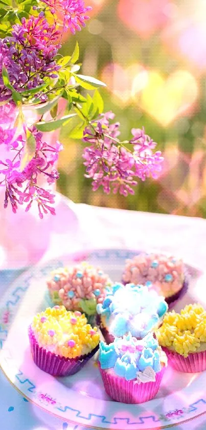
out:
<path id="1" fill-rule="evenodd" d="M 155 334 L 161 346 L 184 357 L 206 350 L 206 312 L 196 303 L 185 306 L 180 314 L 169 312 Z"/>

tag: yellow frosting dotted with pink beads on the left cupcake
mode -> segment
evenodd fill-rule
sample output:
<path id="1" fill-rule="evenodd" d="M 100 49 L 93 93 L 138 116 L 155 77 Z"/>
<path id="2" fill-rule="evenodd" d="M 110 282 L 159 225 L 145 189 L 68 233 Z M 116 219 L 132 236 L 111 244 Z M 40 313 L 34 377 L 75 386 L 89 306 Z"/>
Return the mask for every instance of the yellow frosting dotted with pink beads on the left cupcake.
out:
<path id="1" fill-rule="evenodd" d="M 39 346 L 65 358 L 90 353 L 100 340 L 97 327 L 87 324 L 84 315 L 58 305 L 34 316 L 31 329 Z"/>

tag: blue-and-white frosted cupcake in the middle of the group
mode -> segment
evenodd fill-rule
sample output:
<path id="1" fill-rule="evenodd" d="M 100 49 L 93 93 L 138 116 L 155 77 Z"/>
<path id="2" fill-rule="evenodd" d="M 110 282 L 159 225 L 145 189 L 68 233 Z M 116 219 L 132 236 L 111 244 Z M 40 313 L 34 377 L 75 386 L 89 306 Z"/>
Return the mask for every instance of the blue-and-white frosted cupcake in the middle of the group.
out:
<path id="1" fill-rule="evenodd" d="M 107 343 L 129 332 L 142 339 L 157 328 L 168 310 L 164 297 L 143 285 L 115 283 L 97 305 L 97 323 Z"/>

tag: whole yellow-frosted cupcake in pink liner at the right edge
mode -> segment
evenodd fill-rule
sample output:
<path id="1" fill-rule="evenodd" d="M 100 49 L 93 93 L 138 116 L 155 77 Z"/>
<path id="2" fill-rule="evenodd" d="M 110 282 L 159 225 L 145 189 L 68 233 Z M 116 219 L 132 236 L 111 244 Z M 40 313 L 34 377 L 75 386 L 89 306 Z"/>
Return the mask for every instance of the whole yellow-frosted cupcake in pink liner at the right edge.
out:
<path id="1" fill-rule="evenodd" d="M 180 372 L 206 370 L 206 312 L 199 304 L 189 304 L 180 314 L 168 312 L 155 332 L 168 362 Z"/>

